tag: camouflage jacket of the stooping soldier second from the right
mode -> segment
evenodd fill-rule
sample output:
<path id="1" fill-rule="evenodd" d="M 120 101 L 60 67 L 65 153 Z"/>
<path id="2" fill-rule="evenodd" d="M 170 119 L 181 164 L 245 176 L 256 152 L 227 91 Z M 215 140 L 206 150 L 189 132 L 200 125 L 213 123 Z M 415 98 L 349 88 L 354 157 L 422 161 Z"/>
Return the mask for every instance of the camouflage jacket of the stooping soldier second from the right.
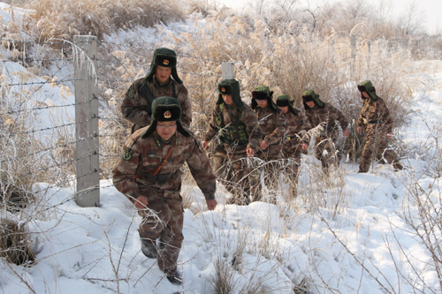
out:
<path id="1" fill-rule="evenodd" d="M 347 118 L 344 117 L 339 109 L 336 109 L 330 103 L 324 102 L 323 108 L 316 106 L 313 109 L 306 109 L 305 112 L 312 127 L 316 127 L 318 124 L 323 123 L 324 131 L 321 132 L 321 136 L 328 137 L 338 134 L 339 128 L 336 121 L 339 122 L 342 130 L 347 130 Z"/>

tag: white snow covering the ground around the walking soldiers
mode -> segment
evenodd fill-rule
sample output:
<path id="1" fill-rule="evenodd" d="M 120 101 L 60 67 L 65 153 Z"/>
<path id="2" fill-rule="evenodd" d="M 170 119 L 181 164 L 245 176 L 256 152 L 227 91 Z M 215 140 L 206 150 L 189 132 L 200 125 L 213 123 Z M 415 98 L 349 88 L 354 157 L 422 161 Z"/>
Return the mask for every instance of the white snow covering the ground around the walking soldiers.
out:
<path id="1" fill-rule="evenodd" d="M 194 205 L 184 215 L 182 286 L 169 283 L 156 260 L 141 253 L 141 217 L 111 180 L 101 181 L 101 207 L 79 207 L 72 189 L 39 183 L 34 190 L 41 192 L 43 207 L 29 223 L 36 262 L 22 267 L 0 260 L 1 292 L 210 293 L 217 271 L 228 274 L 232 293 L 292 293 L 303 281 L 314 293 L 439 292 L 431 253 L 405 218 L 408 211 L 415 221 L 417 216 L 410 188 L 418 184 L 422 199 L 435 203 L 442 189 L 432 170 L 434 155 L 440 156 L 442 61 L 416 62 L 421 65 L 423 72 L 408 79 L 429 82 L 415 87 L 415 116 L 399 130 L 408 170 L 375 165 L 357 174 L 357 166 L 343 162 L 340 182 L 319 185 L 304 197 L 307 186 L 301 186 L 292 204 L 281 205 L 225 205 L 229 195 L 218 186 L 215 211 L 207 211 L 197 187 L 183 187 Z M 4 64 L 11 82 L 13 72 L 26 71 L 13 66 Z M 57 87 L 45 93 L 54 103 L 61 99 Z M 311 156 L 303 157 L 301 175 Z M 309 175 L 301 176 L 300 185 L 311 183 Z"/>

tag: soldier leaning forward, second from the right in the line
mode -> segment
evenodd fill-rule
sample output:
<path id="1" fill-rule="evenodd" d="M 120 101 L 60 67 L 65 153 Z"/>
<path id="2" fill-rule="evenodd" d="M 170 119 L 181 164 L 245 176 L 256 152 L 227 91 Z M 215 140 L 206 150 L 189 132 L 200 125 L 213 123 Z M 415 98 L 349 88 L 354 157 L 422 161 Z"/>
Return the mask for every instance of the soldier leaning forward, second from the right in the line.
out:
<path id="1" fill-rule="evenodd" d="M 329 174 L 331 164 L 339 163 L 339 156 L 336 150 L 336 143 L 339 138 L 339 122 L 344 136 L 348 137 L 348 121 L 339 109 L 330 103 L 322 102 L 319 95 L 313 90 L 308 90 L 302 95 L 307 118 L 312 127 L 319 125 L 321 132 L 315 139 L 315 156 L 321 161 L 322 168 L 326 175 Z"/>

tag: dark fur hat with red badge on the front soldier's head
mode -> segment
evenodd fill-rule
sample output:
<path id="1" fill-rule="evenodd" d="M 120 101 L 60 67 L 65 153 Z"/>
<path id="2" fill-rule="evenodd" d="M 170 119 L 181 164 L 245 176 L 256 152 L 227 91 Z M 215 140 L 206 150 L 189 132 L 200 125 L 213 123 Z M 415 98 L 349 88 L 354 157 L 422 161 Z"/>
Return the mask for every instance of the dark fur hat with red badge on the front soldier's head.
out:
<path id="1" fill-rule="evenodd" d="M 176 98 L 158 97 L 152 102 L 152 117 L 148 129 L 141 134 L 141 138 L 148 138 L 156 130 L 156 122 L 177 122 L 177 131 L 190 138 L 192 135 L 181 124 L 181 107 Z"/>

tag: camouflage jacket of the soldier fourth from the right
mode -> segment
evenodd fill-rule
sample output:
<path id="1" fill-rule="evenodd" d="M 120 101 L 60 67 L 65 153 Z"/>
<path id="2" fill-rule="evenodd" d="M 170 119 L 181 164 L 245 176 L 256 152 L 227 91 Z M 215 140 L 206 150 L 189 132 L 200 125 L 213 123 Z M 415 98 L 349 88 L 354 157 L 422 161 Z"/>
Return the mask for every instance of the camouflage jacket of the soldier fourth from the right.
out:
<path id="1" fill-rule="evenodd" d="M 286 132 L 286 117 L 281 109 L 276 110 L 267 107 L 262 109 L 259 106 L 255 108 L 258 124 L 263 132 L 263 140 L 269 145 L 264 153 L 271 158 L 278 157 L 282 148 L 282 139 Z"/>

